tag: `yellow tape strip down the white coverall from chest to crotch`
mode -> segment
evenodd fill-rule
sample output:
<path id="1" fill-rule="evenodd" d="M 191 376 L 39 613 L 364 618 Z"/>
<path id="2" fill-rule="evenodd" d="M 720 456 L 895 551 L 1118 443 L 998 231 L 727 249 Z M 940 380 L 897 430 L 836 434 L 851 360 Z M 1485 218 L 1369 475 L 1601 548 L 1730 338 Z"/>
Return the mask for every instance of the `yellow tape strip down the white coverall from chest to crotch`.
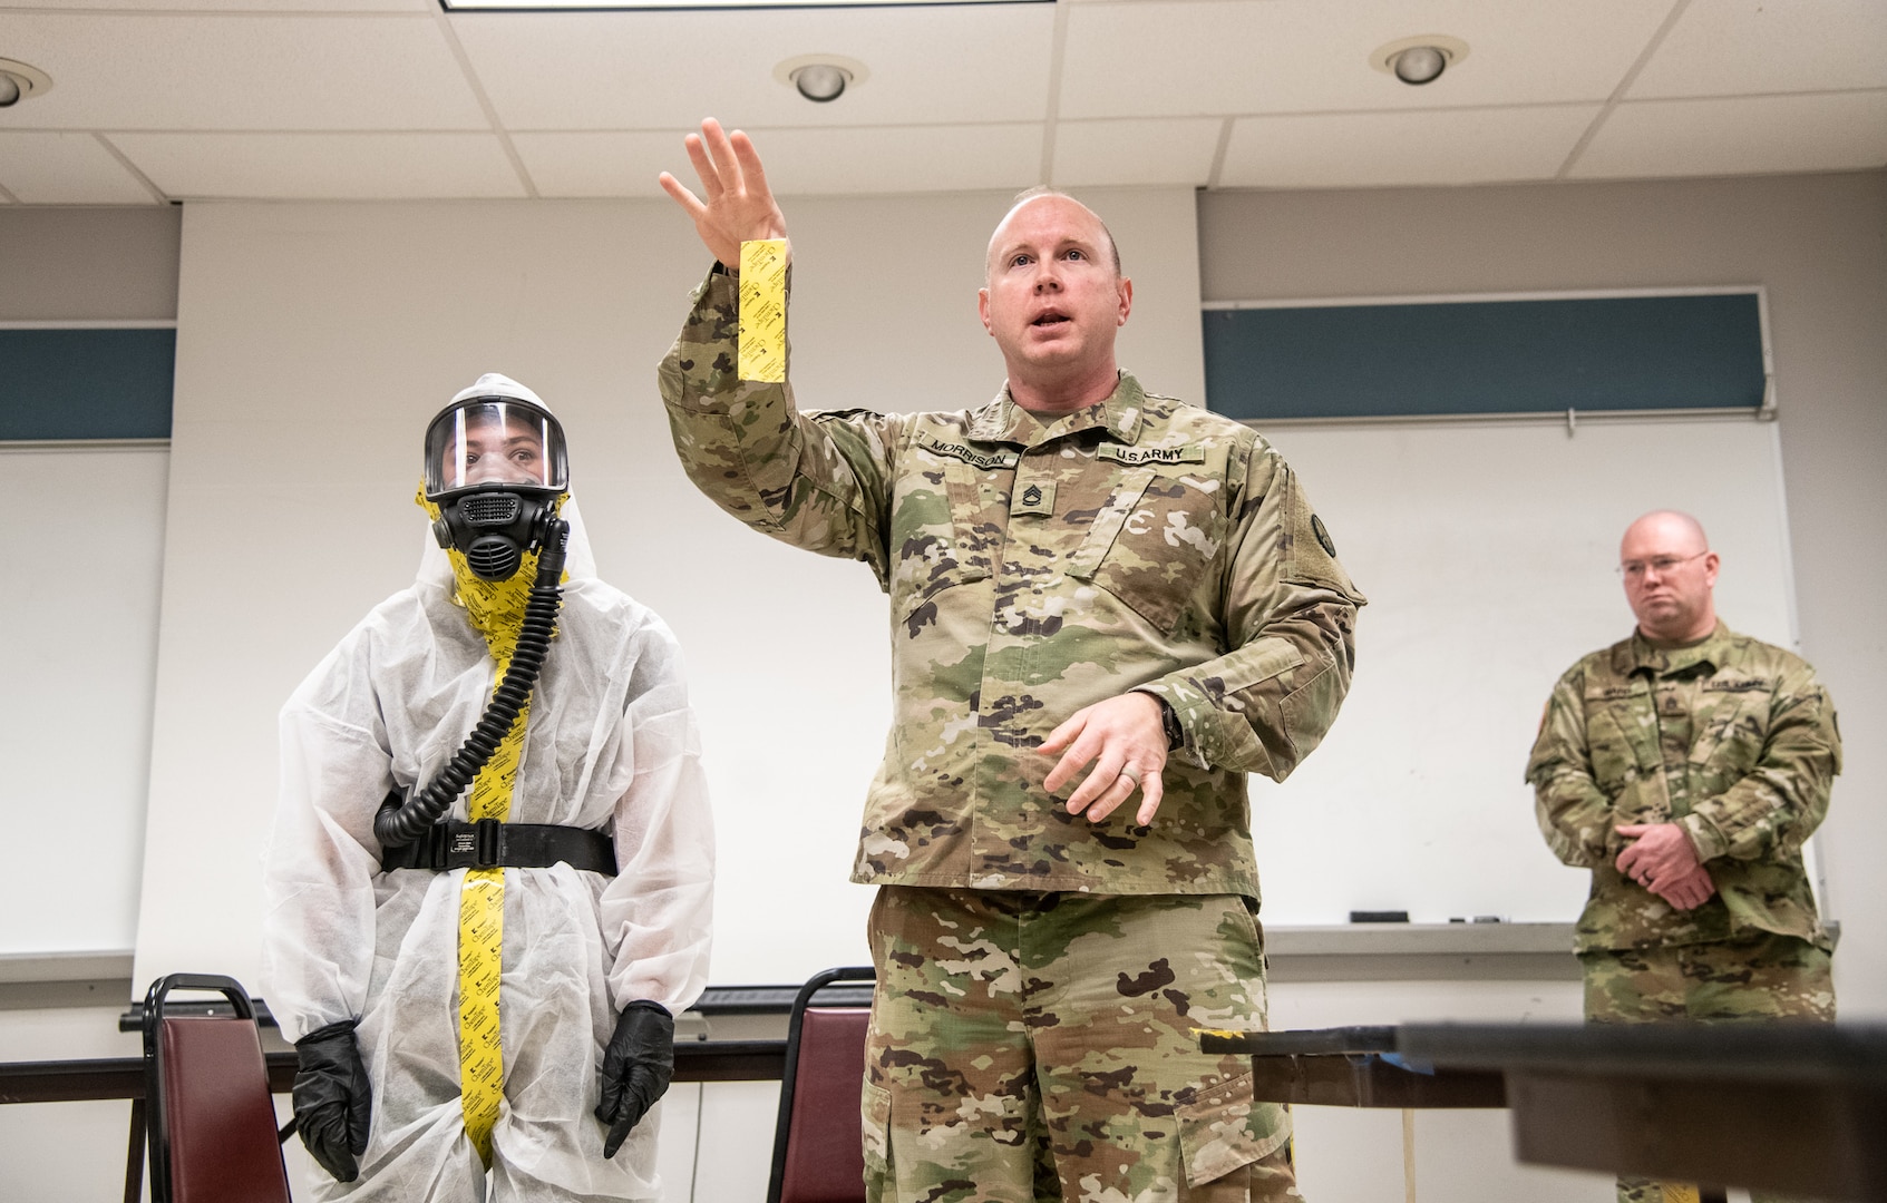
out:
<path id="1" fill-rule="evenodd" d="M 517 647 L 498 658 L 498 681 Z M 517 762 L 525 747 L 530 703 L 498 741 L 498 750 L 472 779 L 466 815 L 504 822 L 511 811 Z M 459 1105 L 466 1118 L 466 1137 L 491 1169 L 491 1129 L 498 1124 L 504 1097 L 504 1052 L 498 1043 L 498 977 L 504 971 L 504 869 L 466 869 L 459 888 Z"/>

